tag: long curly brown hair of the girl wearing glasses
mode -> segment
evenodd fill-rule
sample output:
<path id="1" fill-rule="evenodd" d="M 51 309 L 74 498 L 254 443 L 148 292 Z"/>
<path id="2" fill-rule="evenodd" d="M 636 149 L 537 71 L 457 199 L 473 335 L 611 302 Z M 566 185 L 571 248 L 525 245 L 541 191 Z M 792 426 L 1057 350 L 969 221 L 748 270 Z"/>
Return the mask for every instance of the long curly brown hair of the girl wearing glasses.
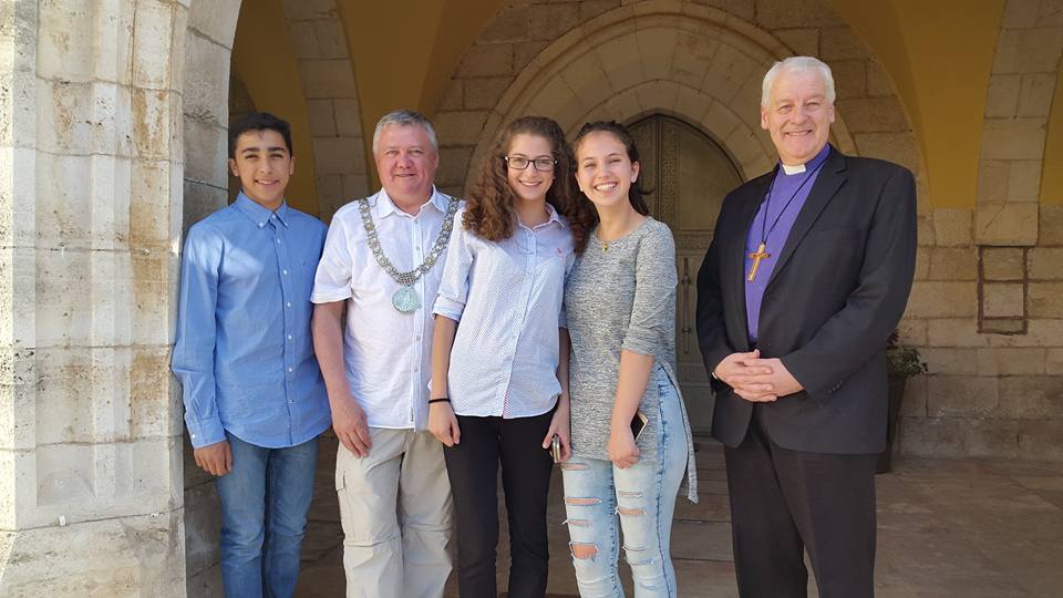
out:
<path id="1" fill-rule="evenodd" d="M 465 217 L 462 224 L 481 237 L 499 241 L 513 236 L 517 223 L 517 197 L 509 187 L 506 154 L 513 138 L 519 134 L 538 135 L 550 142 L 554 165 L 554 183 L 546 192 L 546 202 L 558 214 L 568 217 L 572 207 L 572 156 L 565 142 L 565 133 L 554 120 L 543 116 L 522 116 L 509 123 L 495 137 L 479 168 L 479 176 L 466 198 Z M 528 168 L 535 166 L 529 165 Z M 574 241 L 587 243 L 587 230 L 569 220 Z"/>

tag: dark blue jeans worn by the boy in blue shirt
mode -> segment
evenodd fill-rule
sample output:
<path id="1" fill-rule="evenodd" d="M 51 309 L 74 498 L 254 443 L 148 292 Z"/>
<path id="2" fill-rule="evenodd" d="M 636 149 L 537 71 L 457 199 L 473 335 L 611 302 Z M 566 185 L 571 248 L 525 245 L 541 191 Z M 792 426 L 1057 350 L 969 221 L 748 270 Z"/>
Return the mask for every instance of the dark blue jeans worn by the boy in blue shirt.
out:
<path id="1" fill-rule="evenodd" d="M 287 598 L 313 498 L 318 439 L 264 448 L 226 434 L 233 471 L 217 480 L 221 498 L 221 582 L 227 598 Z"/>

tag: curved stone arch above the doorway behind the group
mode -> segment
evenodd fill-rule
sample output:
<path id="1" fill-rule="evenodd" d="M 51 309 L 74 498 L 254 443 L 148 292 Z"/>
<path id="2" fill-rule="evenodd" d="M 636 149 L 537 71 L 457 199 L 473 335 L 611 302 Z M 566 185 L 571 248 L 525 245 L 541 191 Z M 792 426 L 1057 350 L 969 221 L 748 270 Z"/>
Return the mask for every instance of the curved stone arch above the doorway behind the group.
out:
<path id="1" fill-rule="evenodd" d="M 734 28 L 720 11 L 644 4 L 638 13 L 621 7 L 582 23 L 537 55 L 487 117 L 469 175 L 497 128 L 528 113 L 549 115 L 568 132 L 591 118 L 670 113 L 719 140 L 745 178 L 771 168 L 757 110 L 761 76 L 791 52 L 764 31 Z M 845 132 L 839 118 L 836 136 L 853 151 Z"/>

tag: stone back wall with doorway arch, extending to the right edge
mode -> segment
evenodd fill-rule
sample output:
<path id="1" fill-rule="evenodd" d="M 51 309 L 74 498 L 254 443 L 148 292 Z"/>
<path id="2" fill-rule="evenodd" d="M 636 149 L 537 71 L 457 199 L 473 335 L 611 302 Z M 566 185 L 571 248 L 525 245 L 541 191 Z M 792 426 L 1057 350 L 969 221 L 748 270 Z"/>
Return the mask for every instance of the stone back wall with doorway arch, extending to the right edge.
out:
<path id="1" fill-rule="evenodd" d="M 972 208 L 931 208 L 892 82 L 816 0 L 514 2 L 466 52 L 438 105 L 441 185 L 467 188 L 491 137 L 524 113 L 555 117 L 570 133 L 590 118 L 672 114 L 756 176 L 774 161 L 757 122 L 764 71 L 777 58 L 817 55 L 837 84 L 832 141 L 917 175 L 919 262 L 900 330 L 930 374 L 910 383 L 900 447 L 1063 460 L 1063 207 L 1038 203 L 1061 4 L 1005 6 Z M 940 203 L 956 205 L 948 199 Z"/>

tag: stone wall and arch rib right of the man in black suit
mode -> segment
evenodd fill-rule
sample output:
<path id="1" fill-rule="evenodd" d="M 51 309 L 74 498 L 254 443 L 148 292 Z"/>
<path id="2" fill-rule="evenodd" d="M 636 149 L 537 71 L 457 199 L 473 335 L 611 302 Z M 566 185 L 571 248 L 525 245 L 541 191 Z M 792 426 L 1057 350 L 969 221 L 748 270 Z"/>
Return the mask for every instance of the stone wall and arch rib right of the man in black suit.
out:
<path id="1" fill-rule="evenodd" d="M 1063 461 L 1063 206 L 1039 203 L 1061 58 L 1063 1 L 1009 0 L 974 208 L 920 229 L 905 338 L 930 375 L 909 383 L 906 453 Z"/>

